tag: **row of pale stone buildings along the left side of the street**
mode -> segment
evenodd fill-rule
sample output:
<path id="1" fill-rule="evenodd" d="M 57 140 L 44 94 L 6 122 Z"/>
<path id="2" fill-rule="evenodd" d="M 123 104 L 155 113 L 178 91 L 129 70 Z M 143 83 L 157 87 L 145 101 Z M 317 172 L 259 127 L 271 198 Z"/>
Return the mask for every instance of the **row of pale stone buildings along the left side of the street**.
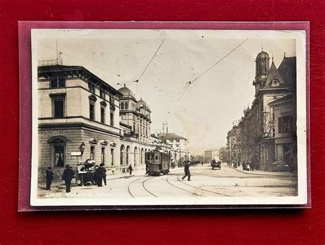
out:
<path id="1" fill-rule="evenodd" d="M 152 134 L 147 103 L 125 85 L 117 90 L 84 67 L 38 66 L 38 176 L 52 167 L 60 178 L 65 165 L 104 163 L 107 174 L 145 167 L 145 152 L 160 149 L 178 163 L 188 157 L 187 139 Z"/>

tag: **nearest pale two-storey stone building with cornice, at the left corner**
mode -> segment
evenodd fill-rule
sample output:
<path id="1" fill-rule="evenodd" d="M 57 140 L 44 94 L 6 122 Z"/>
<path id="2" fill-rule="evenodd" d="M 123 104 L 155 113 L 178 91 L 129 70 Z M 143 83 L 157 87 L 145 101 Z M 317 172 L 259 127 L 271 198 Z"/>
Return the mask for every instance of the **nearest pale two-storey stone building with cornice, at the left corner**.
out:
<path id="1" fill-rule="evenodd" d="M 65 165 L 104 163 L 119 169 L 122 94 L 84 67 L 38 67 L 38 173 Z M 79 153 L 79 154 L 78 154 Z"/>

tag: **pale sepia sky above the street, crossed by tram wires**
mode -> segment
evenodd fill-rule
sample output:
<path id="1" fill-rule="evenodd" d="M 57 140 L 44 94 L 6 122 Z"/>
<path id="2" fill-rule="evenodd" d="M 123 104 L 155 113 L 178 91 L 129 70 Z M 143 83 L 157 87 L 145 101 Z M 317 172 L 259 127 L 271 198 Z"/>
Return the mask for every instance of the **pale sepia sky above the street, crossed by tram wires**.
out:
<path id="1" fill-rule="evenodd" d="M 79 65 L 115 89 L 125 83 L 152 110 L 152 133 L 163 130 L 189 139 L 191 154 L 226 145 L 232 121 L 254 99 L 255 58 L 263 50 L 276 67 L 283 53 L 296 56 L 291 32 L 224 30 L 38 30 L 38 60 Z M 224 60 L 204 73 L 246 38 Z M 165 39 L 165 40 L 164 40 Z M 164 41 L 163 41 L 164 40 Z M 154 56 L 160 44 L 160 49 Z M 154 56 L 151 64 L 149 61 Z M 271 65 L 272 59 L 270 59 Z M 145 73 L 143 71 L 147 67 Z M 136 86 L 134 80 L 143 76 Z M 195 80 L 198 76 L 200 78 Z M 193 81 L 189 89 L 186 82 Z M 121 84 L 121 85 L 119 85 Z M 182 94 L 183 93 L 183 94 Z M 180 97 L 182 95 L 182 97 Z"/>

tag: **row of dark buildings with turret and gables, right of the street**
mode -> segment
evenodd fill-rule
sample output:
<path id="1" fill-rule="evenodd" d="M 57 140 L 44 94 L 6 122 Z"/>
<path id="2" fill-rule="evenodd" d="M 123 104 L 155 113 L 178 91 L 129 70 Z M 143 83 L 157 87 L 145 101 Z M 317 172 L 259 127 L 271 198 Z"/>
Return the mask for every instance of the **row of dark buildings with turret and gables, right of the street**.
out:
<path id="1" fill-rule="evenodd" d="M 251 161 L 259 170 L 297 169 L 296 57 L 286 57 L 277 68 L 272 57 L 256 56 L 251 107 L 228 131 L 228 161 L 237 167 Z"/>

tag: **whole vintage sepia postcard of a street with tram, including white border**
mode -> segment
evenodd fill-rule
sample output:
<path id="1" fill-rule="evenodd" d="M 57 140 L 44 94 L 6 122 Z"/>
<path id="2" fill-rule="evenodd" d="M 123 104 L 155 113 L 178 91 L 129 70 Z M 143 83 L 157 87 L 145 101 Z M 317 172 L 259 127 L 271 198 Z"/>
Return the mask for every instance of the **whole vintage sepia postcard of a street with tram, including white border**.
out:
<path id="1" fill-rule="evenodd" d="M 307 203 L 304 30 L 31 34 L 32 206 Z"/>

